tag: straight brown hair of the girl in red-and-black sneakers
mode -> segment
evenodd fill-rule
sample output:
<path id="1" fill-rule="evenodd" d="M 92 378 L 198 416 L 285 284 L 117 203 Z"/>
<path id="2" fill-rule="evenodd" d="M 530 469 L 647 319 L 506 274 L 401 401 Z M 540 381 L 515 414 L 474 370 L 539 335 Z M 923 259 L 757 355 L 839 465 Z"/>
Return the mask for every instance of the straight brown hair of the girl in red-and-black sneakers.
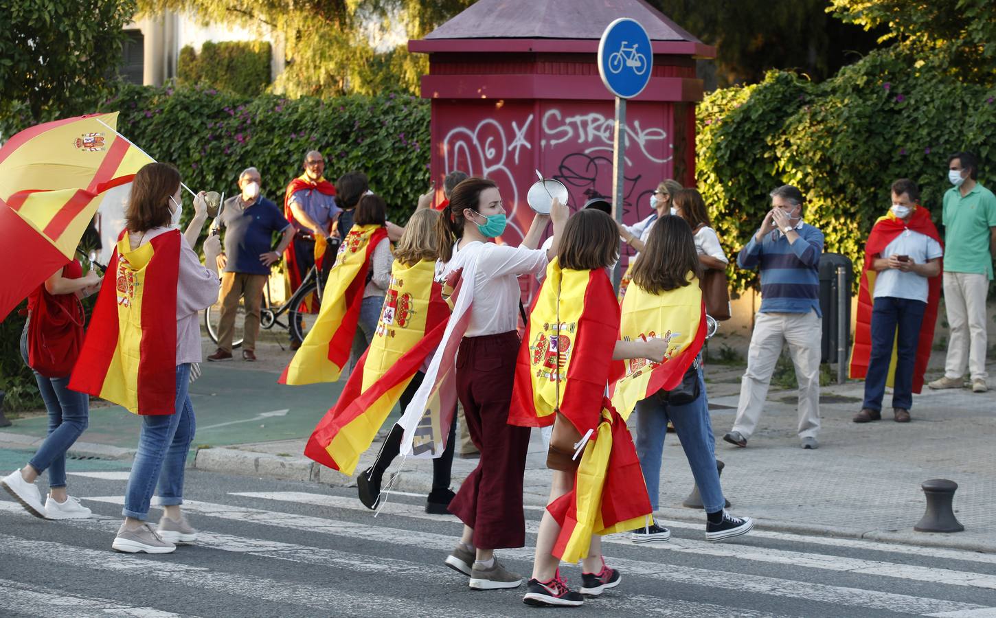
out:
<path id="1" fill-rule="evenodd" d="M 557 247 L 561 268 L 594 271 L 611 266 L 619 258 L 620 232 L 612 217 L 588 208 L 571 215 Z"/>

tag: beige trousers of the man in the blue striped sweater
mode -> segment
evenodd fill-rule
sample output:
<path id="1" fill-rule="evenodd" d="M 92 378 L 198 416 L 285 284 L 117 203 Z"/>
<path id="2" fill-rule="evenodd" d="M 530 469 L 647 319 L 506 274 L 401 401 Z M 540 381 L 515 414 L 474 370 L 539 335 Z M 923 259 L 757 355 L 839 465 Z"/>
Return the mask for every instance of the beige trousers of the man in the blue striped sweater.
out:
<path id="1" fill-rule="evenodd" d="M 820 431 L 820 342 L 823 318 L 809 313 L 757 313 L 747 352 L 747 371 L 740 382 L 740 403 L 733 431 L 750 438 L 761 417 L 771 374 L 782 345 L 789 344 L 799 382 L 799 437 L 816 438 Z"/>

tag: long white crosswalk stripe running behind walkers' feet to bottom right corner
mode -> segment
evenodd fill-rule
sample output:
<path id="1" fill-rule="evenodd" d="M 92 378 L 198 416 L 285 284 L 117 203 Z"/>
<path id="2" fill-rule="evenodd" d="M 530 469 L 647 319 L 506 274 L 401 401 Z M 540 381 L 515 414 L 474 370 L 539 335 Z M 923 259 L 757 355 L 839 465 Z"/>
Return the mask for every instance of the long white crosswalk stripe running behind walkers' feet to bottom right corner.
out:
<path id="1" fill-rule="evenodd" d="M 90 498 L 89 500 L 116 505 L 123 504 L 124 502 L 123 497 L 117 496 Z M 449 551 L 455 542 L 453 536 L 443 534 L 412 531 L 381 525 L 372 526 L 363 522 L 328 519 L 311 515 L 287 514 L 215 503 L 189 501 L 184 503 L 183 509 L 188 514 L 207 515 L 247 523 L 307 530 L 312 533 L 363 538 L 410 547 L 431 548 L 439 551 Z M 528 548 L 502 549 L 499 553 L 503 556 L 528 562 L 531 562 L 533 558 L 533 552 Z M 763 575 L 717 571 L 676 564 L 668 564 L 666 568 L 661 568 L 658 562 L 614 558 L 613 565 L 618 567 L 623 573 L 639 575 L 662 582 L 709 586 L 736 592 L 761 593 L 778 597 L 806 599 L 839 606 L 880 609 L 907 614 L 925 615 L 984 608 L 984 606 L 973 603 L 932 599 L 848 586 L 795 581 Z"/>

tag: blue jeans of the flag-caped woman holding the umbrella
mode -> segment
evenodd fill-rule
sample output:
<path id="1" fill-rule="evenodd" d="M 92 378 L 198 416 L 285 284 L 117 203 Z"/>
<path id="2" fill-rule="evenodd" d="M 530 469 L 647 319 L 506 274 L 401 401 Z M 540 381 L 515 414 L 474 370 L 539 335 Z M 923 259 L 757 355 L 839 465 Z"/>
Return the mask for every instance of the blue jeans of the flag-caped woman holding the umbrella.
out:
<path id="1" fill-rule="evenodd" d="M 197 428 L 189 383 L 190 365 L 176 365 L 176 411 L 141 417 L 138 450 L 124 490 L 124 516 L 144 519 L 156 484 L 161 506 L 183 504 L 183 468 Z"/>

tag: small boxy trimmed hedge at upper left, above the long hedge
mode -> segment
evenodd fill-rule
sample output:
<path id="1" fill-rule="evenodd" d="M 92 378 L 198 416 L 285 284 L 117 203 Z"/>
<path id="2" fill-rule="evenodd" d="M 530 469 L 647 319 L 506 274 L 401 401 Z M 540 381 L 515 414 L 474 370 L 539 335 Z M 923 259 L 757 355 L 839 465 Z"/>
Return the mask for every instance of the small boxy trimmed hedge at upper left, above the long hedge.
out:
<path id="1" fill-rule="evenodd" d="M 176 82 L 180 86 L 209 88 L 256 97 L 270 85 L 272 52 L 267 42 L 204 43 L 200 54 L 189 45 L 180 50 Z"/>

